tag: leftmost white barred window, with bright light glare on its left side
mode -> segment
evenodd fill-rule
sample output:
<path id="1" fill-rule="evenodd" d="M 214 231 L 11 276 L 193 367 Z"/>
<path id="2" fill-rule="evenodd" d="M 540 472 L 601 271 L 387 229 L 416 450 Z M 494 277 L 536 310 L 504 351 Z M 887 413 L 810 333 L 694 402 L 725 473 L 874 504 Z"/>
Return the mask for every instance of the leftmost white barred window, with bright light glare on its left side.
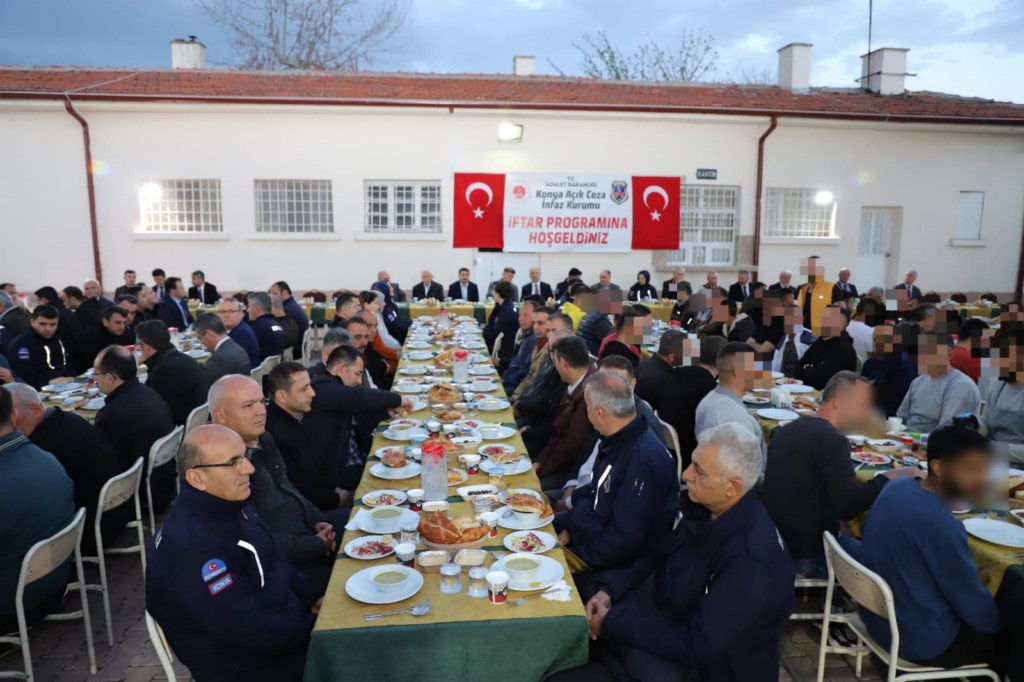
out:
<path id="1" fill-rule="evenodd" d="M 144 232 L 222 232 L 220 180 L 145 180 L 138 191 Z"/>

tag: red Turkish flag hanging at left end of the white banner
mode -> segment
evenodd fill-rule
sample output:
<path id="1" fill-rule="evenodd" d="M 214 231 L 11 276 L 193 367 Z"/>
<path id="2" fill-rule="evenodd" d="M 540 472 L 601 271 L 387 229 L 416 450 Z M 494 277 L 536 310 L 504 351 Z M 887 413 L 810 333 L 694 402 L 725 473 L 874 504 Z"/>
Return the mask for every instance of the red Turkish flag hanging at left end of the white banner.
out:
<path id="1" fill-rule="evenodd" d="M 456 173 L 452 214 L 455 216 L 455 248 L 504 248 L 505 175 Z M 676 222 L 678 224 L 678 220 Z M 676 232 L 678 235 L 678 227 Z"/>

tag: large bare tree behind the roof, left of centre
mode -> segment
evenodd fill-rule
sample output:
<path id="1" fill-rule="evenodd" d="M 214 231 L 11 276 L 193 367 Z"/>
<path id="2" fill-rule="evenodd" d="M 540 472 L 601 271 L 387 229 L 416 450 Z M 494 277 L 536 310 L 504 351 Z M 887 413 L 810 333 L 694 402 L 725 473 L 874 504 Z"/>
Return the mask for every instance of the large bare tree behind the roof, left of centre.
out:
<path id="1" fill-rule="evenodd" d="M 412 0 L 199 0 L 244 69 L 344 69 L 387 49 Z"/>

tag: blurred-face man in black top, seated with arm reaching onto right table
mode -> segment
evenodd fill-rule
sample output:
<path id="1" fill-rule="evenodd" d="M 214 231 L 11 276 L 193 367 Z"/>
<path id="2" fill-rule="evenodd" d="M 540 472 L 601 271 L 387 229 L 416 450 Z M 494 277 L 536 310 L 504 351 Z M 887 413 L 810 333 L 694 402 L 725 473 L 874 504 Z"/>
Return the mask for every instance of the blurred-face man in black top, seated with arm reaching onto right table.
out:
<path id="1" fill-rule="evenodd" d="M 840 521 L 867 511 L 889 479 L 918 471 L 891 469 L 866 483 L 857 482 L 844 434 L 860 432 L 870 423 L 870 382 L 840 372 L 821 392 L 817 413 L 779 429 L 768 445 L 761 501 L 802 576 L 825 576 L 822 532 L 836 534 Z"/>

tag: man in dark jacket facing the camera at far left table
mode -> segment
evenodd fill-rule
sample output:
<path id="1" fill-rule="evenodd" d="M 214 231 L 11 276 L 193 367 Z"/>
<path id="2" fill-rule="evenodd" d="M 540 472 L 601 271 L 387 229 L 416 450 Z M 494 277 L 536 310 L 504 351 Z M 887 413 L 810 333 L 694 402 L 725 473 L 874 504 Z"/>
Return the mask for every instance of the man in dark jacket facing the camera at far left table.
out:
<path id="1" fill-rule="evenodd" d="M 10 369 L 33 388 L 42 388 L 54 379 L 75 376 L 75 368 L 58 334 L 60 318 L 51 305 L 37 305 L 32 311 L 29 329 L 8 344 L 4 350 Z"/>

